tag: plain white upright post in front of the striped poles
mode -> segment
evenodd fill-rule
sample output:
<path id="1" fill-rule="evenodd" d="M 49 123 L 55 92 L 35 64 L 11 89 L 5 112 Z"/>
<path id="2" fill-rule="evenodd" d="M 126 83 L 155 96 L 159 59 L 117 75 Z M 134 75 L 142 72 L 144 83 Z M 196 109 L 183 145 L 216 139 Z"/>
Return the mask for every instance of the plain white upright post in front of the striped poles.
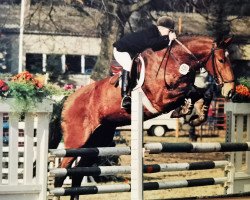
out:
<path id="1" fill-rule="evenodd" d="M 132 91 L 131 199 L 143 200 L 143 110 L 139 89 Z"/>

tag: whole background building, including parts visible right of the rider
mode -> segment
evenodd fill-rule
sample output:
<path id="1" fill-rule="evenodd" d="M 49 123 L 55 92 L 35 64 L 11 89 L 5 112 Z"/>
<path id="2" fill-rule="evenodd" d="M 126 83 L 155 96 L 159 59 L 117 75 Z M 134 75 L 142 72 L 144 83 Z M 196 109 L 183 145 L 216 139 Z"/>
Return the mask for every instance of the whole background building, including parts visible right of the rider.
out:
<path id="1" fill-rule="evenodd" d="M 53 78 L 67 75 L 71 82 L 85 85 L 100 53 L 100 13 L 86 8 L 91 16 L 70 6 L 29 8 L 23 36 L 23 70 L 49 73 Z M 18 72 L 20 5 L 0 4 L 0 72 Z M 181 32 L 209 34 L 206 21 L 197 13 L 168 13 L 181 19 Z M 234 18 L 234 16 L 230 16 Z M 249 17 L 232 20 L 235 42 L 231 57 L 239 76 L 250 76 Z M 77 81 L 78 80 L 78 81 Z"/>

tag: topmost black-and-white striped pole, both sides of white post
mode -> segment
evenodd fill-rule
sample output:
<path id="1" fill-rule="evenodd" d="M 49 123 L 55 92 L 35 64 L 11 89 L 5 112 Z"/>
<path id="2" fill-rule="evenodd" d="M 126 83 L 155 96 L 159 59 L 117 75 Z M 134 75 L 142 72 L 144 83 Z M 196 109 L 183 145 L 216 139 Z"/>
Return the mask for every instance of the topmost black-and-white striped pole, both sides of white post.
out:
<path id="1" fill-rule="evenodd" d="M 131 147 L 132 148 L 132 147 Z M 250 151 L 250 142 L 246 143 L 146 143 L 144 148 L 150 154 L 165 153 L 199 153 L 199 152 L 237 152 Z M 56 157 L 77 156 L 111 156 L 130 155 L 130 147 L 97 147 L 81 149 L 50 149 Z"/>

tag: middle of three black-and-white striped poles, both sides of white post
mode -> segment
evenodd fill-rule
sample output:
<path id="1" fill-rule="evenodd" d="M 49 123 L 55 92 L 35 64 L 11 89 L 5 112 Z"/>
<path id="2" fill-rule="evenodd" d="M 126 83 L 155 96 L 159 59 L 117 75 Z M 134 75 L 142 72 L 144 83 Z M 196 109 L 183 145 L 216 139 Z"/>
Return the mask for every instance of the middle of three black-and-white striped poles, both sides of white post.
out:
<path id="1" fill-rule="evenodd" d="M 228 164 L 229 162 L 226 160 L 193 162 L 193 163 L 153 164 L 153 165 L 144 165 L 143 173 L 215 169 L 215 168 L 223 168 Z M 76 167 L 69 169 L 56 168 L 50 170 L 50 175 L 55 177 L 71 176 L 74 174 L 79 174 L 84 176 L 107 176 L 107 175 L 130 174 L 130 173 L 131 173 L 130 166 Z"/>

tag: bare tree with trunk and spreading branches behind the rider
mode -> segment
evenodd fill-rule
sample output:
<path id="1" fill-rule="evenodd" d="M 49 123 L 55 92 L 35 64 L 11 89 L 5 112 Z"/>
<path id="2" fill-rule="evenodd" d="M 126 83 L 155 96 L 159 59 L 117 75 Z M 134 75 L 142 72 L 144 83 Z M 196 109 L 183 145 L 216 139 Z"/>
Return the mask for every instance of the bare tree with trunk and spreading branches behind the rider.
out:
<path id="1" fill-rule="evenodd" d="M 99 37 L 101 38 L 101 52 L 98 56 L 97 62 L 94 66 L 94 70 L 92 73 L 92 78 L 94 80 L 102 79 L 106 77 L 109 73 L 109 65 L 112 60 L 112 50 L 113 43 L 120 38 L 124 34 L 124 28 L 127 23 L 129 23 L 129 18 L 132 13 L 142 9 L 146 5 L 148 5 L 152 0 L 141 0 L 141 1 L 133 1 L 133 0 L 32 0 L 31 4 L 33 5 L 33 9 L 30 10 L 29 19 L 27 20 L 28 25 L 30 27 L 32 25 L 32 18 L 34 16 L 43 16 L 43 19 L 40 20 L 38 29 L 42 29 L 46 27 L 49 23 L 56 31 L 60 31 L 62 29 L 62 21 L 56 19 L 56 9 L 57 5 L 66 4 L 67 6 L 71 6 L 75 8 L 75 10 L 80 13 L 83 18 L 88 17 L 92 18 L 92 22 L 97 24 L 97 29 L 99 33 Z M 43 7 L 47 7 L 47 10 L 44 11 Z M 36 7 L 36 8 L 34 8 Z M 92 17 L 92 13 L 89 8 L 95 9 L 99 12 L 101 16 L 98 19 Z M 46 12 L 46 14 L 45 14 Z M 42 13 L 42 14 L 39 14 Z M 46 17 L 44 16 L 46 15 Z M 42 21 L 44 20 L 44 21 Z M 131 26 L 130 26 L 131 27 Z M 131 31 L 133 31 L 131 29 Z"/>

